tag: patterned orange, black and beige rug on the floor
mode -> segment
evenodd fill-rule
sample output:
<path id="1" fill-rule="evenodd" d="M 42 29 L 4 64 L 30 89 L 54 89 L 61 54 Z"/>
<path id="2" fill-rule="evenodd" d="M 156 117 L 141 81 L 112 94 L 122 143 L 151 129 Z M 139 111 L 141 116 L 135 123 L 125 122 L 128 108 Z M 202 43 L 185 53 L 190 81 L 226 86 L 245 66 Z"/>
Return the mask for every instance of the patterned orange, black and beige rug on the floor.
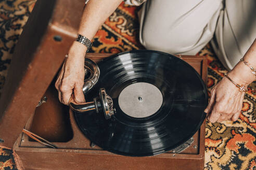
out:
<path id="1" fill-rule="evenodd" d="M 15 44 L 35 0 L 0 0 L 0 95 Z M 92 52 L 118 53 L 143 48 L 138 41 L 138 8 L 121 4 L 100 27 Z M 208 58 L 208 89 L 226 72 L 207 45 L 200 52 Z M 242 113 L 235 122 L 207 122 L 204 169 L 256 169 L 256 82 L 245 95 Z M 0 148 L 0 169 L 17 169 L 12 151 Z"/>

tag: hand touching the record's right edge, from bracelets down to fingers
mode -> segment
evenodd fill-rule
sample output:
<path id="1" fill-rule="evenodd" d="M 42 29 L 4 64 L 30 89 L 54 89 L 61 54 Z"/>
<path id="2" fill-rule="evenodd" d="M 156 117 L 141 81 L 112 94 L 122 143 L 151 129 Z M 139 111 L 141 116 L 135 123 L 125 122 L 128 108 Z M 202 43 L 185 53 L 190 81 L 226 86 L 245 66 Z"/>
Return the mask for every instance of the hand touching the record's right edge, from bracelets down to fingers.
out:
<path id="1" fill-rule="evenodd" d="M 211 90 L 211 99 L 204 110 L 210 122 L 222 122 L 224 120 L 236 121 L 242 109 L 242 100 L 245 92 L 239 89 L 226 77 L 224 77 Z"/>

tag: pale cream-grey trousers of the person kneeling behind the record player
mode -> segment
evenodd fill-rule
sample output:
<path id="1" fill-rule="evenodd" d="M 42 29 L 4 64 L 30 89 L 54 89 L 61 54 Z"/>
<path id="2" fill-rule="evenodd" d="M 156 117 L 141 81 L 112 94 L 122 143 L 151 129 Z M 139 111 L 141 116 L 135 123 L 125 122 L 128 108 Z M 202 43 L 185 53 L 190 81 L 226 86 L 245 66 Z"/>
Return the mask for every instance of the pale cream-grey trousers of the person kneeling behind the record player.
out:
<path id="1" fill-rule="evenodd" d="M 147 49 L 189 55 L 211 40 L 232 69 L 256 38 L 256 0 L 148 0 L 139 37 Z"/>

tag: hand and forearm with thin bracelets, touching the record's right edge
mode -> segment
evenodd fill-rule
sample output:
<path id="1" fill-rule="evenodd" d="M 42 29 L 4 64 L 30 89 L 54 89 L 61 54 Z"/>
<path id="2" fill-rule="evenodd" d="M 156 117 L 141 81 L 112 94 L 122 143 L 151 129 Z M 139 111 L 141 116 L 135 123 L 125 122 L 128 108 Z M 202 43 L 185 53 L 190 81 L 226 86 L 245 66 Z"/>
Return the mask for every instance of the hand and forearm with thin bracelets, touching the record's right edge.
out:
<path id="1" fill-rule="evenodd" d="M 256 39 L 243 58 L 254 69 L 256 68 L 255 56 Z M 255 75 L 252 74 L 251 68 L 244 62 L 238 62 L 228 73 L 228 77 L 240 86 L 243 85 L 245 87 L 255 80 Z M 244 96 L 245 92 L 240 92 L 235 84 L 224 77 L 211 91 L 211 100 L 204 110 L 208 114 L 208 120 L 211 122 L 236 121 L 242 109 Z"/>

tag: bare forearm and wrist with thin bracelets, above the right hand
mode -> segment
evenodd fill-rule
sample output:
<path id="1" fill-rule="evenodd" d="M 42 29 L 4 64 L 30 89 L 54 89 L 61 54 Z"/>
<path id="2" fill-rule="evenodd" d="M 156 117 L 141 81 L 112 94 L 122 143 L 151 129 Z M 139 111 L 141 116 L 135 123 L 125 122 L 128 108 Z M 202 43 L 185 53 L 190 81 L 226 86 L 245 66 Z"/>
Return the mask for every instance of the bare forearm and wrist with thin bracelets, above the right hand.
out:
<path id="1" fill-rule="evenodd" d="M 252 43 L 249 50 L 244 56 L 245 62 L 248 62 L 250 66 L 256 69 L 256 39 Z M 235 82 L 239 84 L 248 85 L 255 80 L 255 75 L 252 74 L 252 70 L 244 62 L 238 62 L 237 65 L 229 72 L 229 77 L 231 77 Z"/>

